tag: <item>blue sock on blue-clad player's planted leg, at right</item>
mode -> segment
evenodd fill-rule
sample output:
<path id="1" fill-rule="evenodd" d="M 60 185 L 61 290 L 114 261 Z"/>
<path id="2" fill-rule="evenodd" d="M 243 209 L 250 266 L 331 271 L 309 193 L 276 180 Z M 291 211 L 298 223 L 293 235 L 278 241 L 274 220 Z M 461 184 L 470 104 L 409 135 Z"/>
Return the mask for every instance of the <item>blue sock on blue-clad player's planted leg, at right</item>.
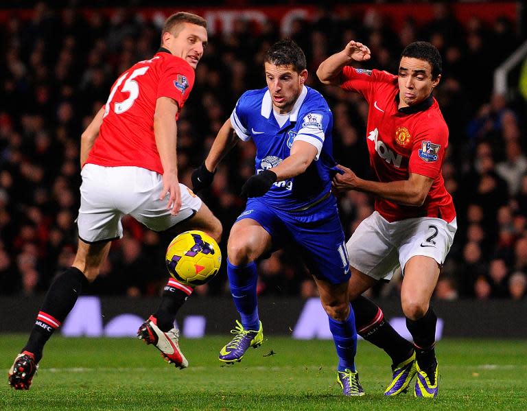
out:
<path id="1" fill-rule="evenodd" d="M 329 330 L 338 355 L 338 371 L 348 368 L 355 371 L 355 354 L 357 353 L 357 331 L 355 331 L 355 315 L 350 306 L 349 316 L 345 321 L 329 318 Z"/>

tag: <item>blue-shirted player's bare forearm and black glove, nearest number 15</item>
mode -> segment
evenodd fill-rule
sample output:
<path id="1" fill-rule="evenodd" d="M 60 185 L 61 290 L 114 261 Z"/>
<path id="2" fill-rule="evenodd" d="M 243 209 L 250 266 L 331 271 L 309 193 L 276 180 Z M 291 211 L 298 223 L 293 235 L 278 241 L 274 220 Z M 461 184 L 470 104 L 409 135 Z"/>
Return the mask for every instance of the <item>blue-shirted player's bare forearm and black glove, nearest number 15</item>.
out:
<path id="1" fill-rule="evenodd" d="M 192 191 L 198 193 L 212 184 L 214 173 L 224 156 L 230 152 L 238 141 L 231 119 L 227 119 L 216 136 L 209 155 L 205 161 L 194 170 L 191 176 Z"/>

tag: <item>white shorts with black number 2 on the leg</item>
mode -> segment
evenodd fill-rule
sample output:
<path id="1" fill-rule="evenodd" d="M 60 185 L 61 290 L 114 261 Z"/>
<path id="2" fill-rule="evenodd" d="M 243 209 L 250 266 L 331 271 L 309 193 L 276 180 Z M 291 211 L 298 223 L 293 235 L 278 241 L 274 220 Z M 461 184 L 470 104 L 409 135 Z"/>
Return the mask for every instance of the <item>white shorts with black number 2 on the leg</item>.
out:
<path id="1" fill-rule="evenodd" d="M 442 265 L 457 228 L 455 218 L 449 223 L 432 217 L 388 222 L 374 211 L 346 244 L 349 263 L 377 280 L 390 280 L 399 266 L 404 274 L 406 262 L 416 255 L 432 257 Z"/>

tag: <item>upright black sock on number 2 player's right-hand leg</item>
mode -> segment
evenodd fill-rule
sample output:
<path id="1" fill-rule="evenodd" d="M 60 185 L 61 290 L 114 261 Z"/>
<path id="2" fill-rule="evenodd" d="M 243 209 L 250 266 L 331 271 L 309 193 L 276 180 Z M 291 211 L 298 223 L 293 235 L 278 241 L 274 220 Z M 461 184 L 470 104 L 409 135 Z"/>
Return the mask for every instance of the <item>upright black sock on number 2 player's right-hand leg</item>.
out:
<path id="1" fill-rule="evenodd" d="M 412 334 L 417 364 L 422 370 L 432 368 L 436 363 L 436 322 L 437 316 L 432 307 L 419 320 L 406 318 L 406 328 Z"/>

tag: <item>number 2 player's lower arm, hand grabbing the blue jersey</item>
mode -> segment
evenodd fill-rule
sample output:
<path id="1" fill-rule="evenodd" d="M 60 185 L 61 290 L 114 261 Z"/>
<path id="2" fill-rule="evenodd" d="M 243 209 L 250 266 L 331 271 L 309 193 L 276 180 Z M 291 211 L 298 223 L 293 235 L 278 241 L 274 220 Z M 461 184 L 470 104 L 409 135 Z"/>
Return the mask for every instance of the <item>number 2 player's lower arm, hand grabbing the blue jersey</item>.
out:
<path id="1" fill-rule="evenodd" d="M 337 167 L 342 170 L 343 174 L 336 174 L 331 182 L 336 192 L 364 191 L 407 206 L 420 207 L 423 205 L 434 182 L 433 178 L 410 173 L 408 180 L 379 183 L 378 181 L 362 180 L 351 169 L 343 165 L 339 164 Z"/>

